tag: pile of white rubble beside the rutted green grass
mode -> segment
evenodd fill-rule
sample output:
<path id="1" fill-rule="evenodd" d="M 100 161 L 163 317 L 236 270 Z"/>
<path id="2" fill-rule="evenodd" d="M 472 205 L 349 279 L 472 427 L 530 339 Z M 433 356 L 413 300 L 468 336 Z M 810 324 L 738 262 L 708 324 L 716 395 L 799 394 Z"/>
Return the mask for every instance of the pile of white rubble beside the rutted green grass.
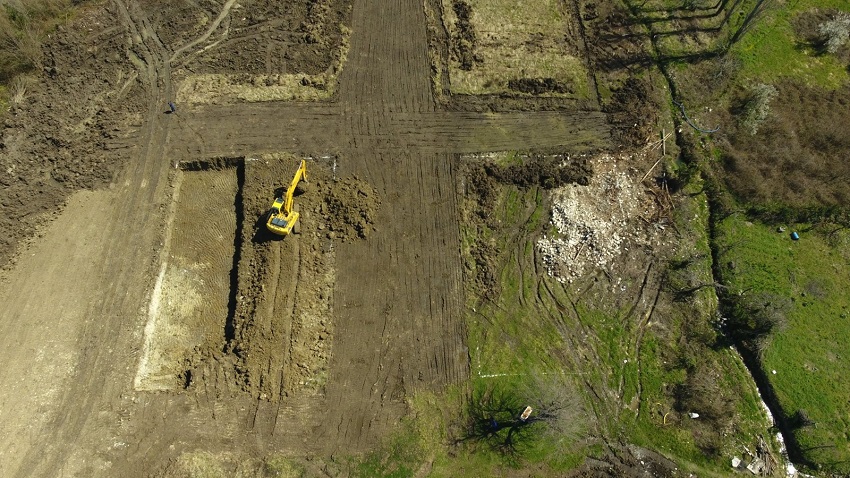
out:
<path id="1" fill-rule="evenodd" d="M 537 241 L 550 276 L 572 281 L 592 269 L 608 269 L 629 243 L 647 242 L 639 215 L 649 217 L 652 201 L 637 171 L 625 167 L 628 156 L 593 158 L 590 184 L 567 185 L 554 192 L 552 224 L 557 234 Z"/>

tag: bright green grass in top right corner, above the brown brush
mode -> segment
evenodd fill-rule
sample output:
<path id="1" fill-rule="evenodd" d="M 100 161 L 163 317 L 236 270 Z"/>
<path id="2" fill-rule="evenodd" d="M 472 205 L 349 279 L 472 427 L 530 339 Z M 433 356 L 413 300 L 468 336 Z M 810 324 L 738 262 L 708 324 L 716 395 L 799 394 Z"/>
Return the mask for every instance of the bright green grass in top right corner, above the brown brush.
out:
<path id="1" fill-rule="evenodd" d="M 834 55 L 817 54 L 794 31 L 795 17 L 810 15 L 815 8 L 846 11 L 848 4 L 846 0 L 792 0 L 768 10 L 732 48 L 732 53 L 742 59 L 745 81 L 792 78 L 808 86 L 831 89 L 847 84 L 846 65 Z"/>

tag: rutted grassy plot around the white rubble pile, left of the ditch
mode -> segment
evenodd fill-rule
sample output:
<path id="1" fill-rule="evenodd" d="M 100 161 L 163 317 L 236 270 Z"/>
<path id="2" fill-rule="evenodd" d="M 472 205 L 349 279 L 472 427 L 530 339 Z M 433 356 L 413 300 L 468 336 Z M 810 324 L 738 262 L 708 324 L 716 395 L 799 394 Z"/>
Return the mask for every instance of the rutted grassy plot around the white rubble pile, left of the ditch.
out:
<path id="1" fill-rule="evenodd" d="M 496 170 L 524 161 L 515 154 L 488 159 Z M 474 163 L 469 167 L 477 170 Z M 719 346 L 708 209 L 699 185 L 668 217 L 675 222 L 670 234 L 679 230 L 676 247 L 652 252 L 652 243 L 669 237 L 663 234 L 643 247 L 629 242 L 605 271 L 590 267 L 567 282 L 547 274 L 536 247 L 551 232 L 557 190 L 491 179 L 489 188 L 470 187 L 464 208 L 467 273 L 480 276 L 486 268 L 495 284 L 495 293 L 482 295 L 480 281 L 467 281 L 479 287 L 471 285 L 468 305 L 474 375 L 465 419 L 477 439 L 466 435 L 466 453 L 498 458 L 499 466 L 519 459 L 550 472 L 576 466 L 589 472 L 598 460 L 628 474 L 644 465 L 613 458 L 619 453 L 613 437 L 625 437 L 703 475 L 728 471 L 732 456 L 755 450 L 760 439 L 771 441 L 746 368 L 734 351 Z M 564 187 L 581 194 L 588 186 Z M 618 208 L 613 197 L 611 206 Z M 531 405 L 523 393 L 535 389 L 529 386 L 535 377 L 566 380 L 572 402 L 584 409 L 579 416 L 588 417 L 584 427 L 564 433 L 576 437 L 566 442 L 569 452 L 556 452 L 564 443 L 556 447 L 552 440 L 534 446 L 543 430 L 533 427 L 523 429 L 526 447 L 512 446 L 508 434 L 525 406 L 520 402 Z M 659 476 L 673 473 L 660 456 L 644 461 Z"/>

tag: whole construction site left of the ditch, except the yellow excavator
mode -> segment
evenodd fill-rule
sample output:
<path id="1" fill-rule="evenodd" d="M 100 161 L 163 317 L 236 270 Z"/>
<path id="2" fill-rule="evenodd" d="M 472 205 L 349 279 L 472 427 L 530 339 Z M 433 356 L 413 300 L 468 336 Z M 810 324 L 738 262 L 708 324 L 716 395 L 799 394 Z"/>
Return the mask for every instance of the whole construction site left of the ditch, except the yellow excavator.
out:
<path id="1" fill-rule="evenodd" d="M 0 475 L 770 462 L 714 327 L 707 188 L 674 177 L 673 83 L 623 6 L 73 3 L 0 142 Z M 526 376 L 567 404 L 533 402 L 536 458 L 470 431 Z"/>

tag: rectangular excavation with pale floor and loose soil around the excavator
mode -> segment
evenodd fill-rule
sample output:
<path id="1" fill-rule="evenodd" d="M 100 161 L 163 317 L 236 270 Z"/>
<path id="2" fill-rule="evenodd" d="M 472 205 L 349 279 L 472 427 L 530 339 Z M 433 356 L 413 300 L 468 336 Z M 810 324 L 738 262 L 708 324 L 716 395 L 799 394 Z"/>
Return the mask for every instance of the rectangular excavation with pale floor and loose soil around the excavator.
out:
<path id="1" fill-rule="evenodd" d="M 333 339 L 334 244 L 368 237 L 379 201 L 370 185 L 333 178 L 330 164 L 310 160 L 309 182 L 294 201 L 299 233 L 269 233 L 265 214 L 301 159 L 178 165 L 138 390 L 215 382 L 267 400 L 322 391 Z"/>

